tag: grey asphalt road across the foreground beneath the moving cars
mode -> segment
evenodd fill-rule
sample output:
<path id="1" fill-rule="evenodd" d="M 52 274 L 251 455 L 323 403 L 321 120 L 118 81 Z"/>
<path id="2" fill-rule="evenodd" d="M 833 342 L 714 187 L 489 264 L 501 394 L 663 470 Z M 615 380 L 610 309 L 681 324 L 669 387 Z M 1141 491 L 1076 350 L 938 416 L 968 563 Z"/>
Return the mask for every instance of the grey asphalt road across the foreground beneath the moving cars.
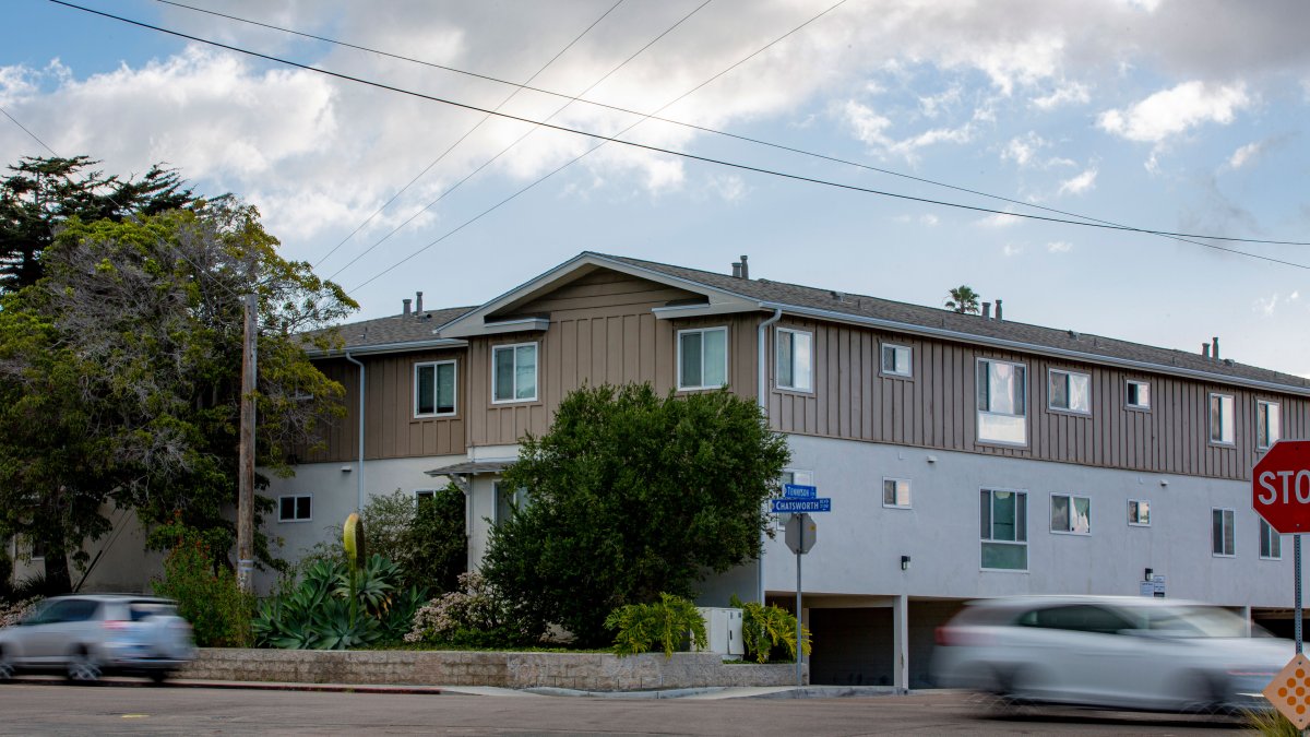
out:
<path id="1" fill-rule="evenodd" d="M 1044 711 L 965 694 L 616 699 L 0 685 L 0 734 L 1226 734 L 1233 721 Z"/>

